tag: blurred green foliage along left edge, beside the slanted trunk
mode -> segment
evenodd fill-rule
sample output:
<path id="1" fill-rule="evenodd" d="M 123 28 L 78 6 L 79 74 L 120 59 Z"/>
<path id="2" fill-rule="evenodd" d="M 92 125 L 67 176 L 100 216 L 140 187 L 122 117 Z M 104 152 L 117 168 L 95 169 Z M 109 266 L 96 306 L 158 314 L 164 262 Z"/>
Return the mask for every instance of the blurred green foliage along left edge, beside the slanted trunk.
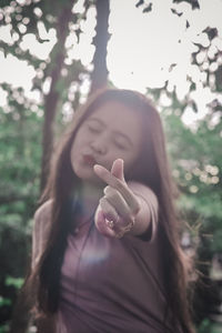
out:
<path id="1" fill-rule="evenodd" d="M 7 320 L 29 261 L 39 196 L 42 112 L 22 89 L 3 88 L 8 107 L 0 108 L 0 313 Z"/>

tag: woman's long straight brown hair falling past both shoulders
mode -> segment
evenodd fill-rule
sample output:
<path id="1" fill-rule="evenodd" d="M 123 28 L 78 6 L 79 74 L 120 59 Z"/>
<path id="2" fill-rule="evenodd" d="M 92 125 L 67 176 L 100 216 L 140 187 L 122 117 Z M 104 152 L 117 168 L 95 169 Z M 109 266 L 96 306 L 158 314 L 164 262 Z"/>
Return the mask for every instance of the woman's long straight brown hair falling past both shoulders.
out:
<path id="1" fill-rule="evenodd" d="M 73 122 L 60 144 L 42 199 L 42 201 L 53 199 L 49 241 L 30 278 L 32 282 L 38 282 L 39 309 L 44 313 L 54 313 L 58 310 L 60 272 L 71 215 L 69 199 L 81 186 L 81 181 L 71 167 L 72 142 L 88 115 L 101 104 L 112 100 L 135 110 L 139 117 L 143 118 L 143 154 L 128 175 L 128 180 L 147 184 L 158 196 L 160 246 L 169 311 L 175 319 L 175 324 L 180 323 L 183 332 L 194 332 L 186 297 L 188 268 L 180 246 L 179 219 L 173 203 L 175 186 L 169 169 L 161 119 L 144 95 L 130 90 L 105 89 L 90 98 L 85 105 L 75 112 Z"/>

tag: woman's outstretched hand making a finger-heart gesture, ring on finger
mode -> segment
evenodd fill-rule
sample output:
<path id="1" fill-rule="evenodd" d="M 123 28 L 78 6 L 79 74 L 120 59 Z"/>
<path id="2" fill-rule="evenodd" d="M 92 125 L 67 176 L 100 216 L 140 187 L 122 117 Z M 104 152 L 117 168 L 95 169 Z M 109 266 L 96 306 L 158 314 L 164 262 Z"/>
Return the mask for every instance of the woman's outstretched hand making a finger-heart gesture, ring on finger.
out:
<path id="1" fill-rule="evenodd" d="M 121 238 L 131 230 L 140 210 L 137 196 L 124 180 L 123 160 L 115 160 L 111 171 L 99 164 L 93 170 L 108 184 L 95 213 L 95 225 L 107 236 Z"/>

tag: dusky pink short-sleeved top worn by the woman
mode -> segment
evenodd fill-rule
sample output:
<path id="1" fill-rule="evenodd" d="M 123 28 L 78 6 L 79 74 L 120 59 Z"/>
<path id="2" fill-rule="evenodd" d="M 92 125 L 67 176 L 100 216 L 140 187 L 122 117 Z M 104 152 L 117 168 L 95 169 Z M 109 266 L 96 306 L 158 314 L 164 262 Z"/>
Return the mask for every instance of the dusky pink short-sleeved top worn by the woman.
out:
<path id="1" fill-rule="evenodd" d="M 120 240 L 105 238 L 93 221 L 69 234 L 57 333 L 175 332 L 164 320 L 158 213 L 151 211 L 151 241 L 130 234 Z M 36 226 L 34 233 L 40 235 L 40 228 Z M 37 255 L 38 243 L 33 242 Z"/>

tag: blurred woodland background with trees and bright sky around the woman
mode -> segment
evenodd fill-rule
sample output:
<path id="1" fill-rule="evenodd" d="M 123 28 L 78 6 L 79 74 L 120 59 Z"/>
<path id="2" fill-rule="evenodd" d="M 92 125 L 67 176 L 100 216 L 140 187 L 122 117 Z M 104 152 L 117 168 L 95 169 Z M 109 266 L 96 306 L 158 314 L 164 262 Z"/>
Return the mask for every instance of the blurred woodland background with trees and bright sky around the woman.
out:
<path id="1" fill-rule="evenodd" d="M 53 148 L 107 84 L 143 92 L 160 111 L 181 242 L 196 255 L 196 332 L 222 332 L 221 13 L 222 0 L 0 1 L 0 333 L 29 268 Z"/>

